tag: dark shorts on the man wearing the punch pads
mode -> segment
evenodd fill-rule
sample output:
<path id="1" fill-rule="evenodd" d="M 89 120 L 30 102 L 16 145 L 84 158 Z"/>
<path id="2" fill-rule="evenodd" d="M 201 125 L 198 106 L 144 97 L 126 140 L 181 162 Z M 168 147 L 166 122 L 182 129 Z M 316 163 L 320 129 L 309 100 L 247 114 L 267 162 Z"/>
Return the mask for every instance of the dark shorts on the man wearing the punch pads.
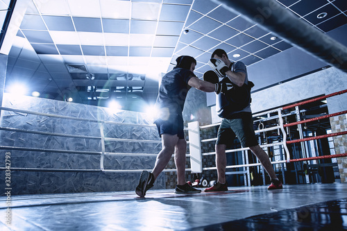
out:
<path id="1" fill-rule="evenodd" d="M 218 129 L 216 144 L 232 144 L 237 137 L 242 147 L 257 146 L 252 113 L 241 112 L 233 119 L 223 119 Z"/>

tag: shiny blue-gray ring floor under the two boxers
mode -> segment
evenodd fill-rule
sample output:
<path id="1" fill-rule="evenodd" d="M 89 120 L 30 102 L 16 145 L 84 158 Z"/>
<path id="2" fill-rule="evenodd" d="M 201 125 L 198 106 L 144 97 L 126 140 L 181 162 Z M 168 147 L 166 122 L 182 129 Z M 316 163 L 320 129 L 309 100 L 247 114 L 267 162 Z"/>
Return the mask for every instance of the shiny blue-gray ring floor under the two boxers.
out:
<path id="1" fill-rule="evenodd" d="M 41 194 L 0 200 L 0 230 L 347 230 L 347 184 Z"/>

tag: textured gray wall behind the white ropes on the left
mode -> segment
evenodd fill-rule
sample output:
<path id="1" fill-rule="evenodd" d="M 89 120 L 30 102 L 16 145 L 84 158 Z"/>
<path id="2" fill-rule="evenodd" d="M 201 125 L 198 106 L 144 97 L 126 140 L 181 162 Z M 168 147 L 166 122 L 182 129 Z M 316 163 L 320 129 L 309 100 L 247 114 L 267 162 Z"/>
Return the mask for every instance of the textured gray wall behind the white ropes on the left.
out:
<path id="1" fill-rule="evenodd" d="M 123 139 L 159 140 L 157 129 L 144 114 L 129 111 L 110 113 L 108 109 L 67 103 L 49 99 L 37 99 L 21 96 L 17 99 L 11 94 L 3 94 L 3 107 L 30 110 L 35 112 L 57 114 L 83 119 L 100 119 L 131 123 L 133 125 L 105 124 L 105 137 Z M 33 115 L 22 112 L 3 110 L 1 127 L 35 130 L 39 132 L 56 132 L 69 135 L 85 135 L 101 137 L 99 123 L 93 121 L 76 121 Z M 73 153 L 57 153 L 55 151 L 20 151 L 2 148 L 0 160 L 5 160 L 5 153 L 11 153 L 12 168 L 44 168 L 44 169 L 99 169 L 100 155 L 83 155 L 74 151 L 101 152 L 101 139 L 85 139 L 58 137 L 53 135 L 35 135 L 28 132 L 0 130 L 1 146 L 25 148 L 44 148 L 73 151 Z M 140 153 L 159 153 L 160 143 L 147 142 L 105 142 L 105 152 L 133 153 L 133 156 L 105 156 L 105 169 L 153 169 L 155 157 L 137 156 Z M 0 162 L 5 166 L 5 162 Z M 3 195 L 4 175 L 0 176 L 0 194 Z M 85 191 L 134 191 L 140 173 L 109 172 L 45 172 L 45 171 L 12 171 L 11 194 L 47 194 L 74 193 Z M 164 173 L 155 182 L 155 189 L 165 188 Z"/>

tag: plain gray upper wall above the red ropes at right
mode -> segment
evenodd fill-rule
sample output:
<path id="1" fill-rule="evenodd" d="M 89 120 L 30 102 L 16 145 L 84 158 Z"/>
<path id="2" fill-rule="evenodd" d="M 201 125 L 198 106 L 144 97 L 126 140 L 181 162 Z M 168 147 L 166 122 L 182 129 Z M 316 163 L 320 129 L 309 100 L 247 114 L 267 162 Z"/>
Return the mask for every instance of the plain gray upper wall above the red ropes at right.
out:
<path id="1" fill-rule="evenodd" d="M 321 94 L 331 94 L 347 89 L 347 74 L 335 67 L 324 69 L 287 83 L 269 87 L 252 94 L 252 111 L 261 112 L 288 103 L 309 99 Z M 327 99 L 329 113 L 347 108 L 347 95 Z"/>

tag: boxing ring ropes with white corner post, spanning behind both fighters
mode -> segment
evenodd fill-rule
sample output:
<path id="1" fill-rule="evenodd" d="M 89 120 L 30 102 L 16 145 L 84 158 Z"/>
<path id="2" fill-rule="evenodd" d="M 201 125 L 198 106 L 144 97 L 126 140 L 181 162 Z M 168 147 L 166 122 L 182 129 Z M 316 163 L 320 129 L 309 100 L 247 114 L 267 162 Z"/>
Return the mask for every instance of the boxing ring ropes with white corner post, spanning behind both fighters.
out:
<path id="1" fill-rule="evenodd" d="M 306 119 L 301 121 L 300 119 L 300 111 L 299 106 L 305 105 L 307 103 L 312 103 L 314 101 L 321 101 L 323 99 L 327 99 L 332 96 L 336 96 L 338 94 L 345 94 L 347 90 L 335 92 L 333 94 L 328 94 L 326 96 L 321 96 L 315 99 L 310 99 L 309 101 L 303 101 L 301 103 L 295 103 L 292 105 L 287 105 L 282 108 L 277 108 L 275 110 L 269 110 L 266 112 L 261 112 L 259 114 L 253 114 L 253 117 L 269 117 L 270 114 L 276 114 L 277 115 L 277 121 L 278 124 L 276 126 L 272 126 L 269 128 L 264 128 L 263 124 L 260 123 L 258 126 L 258 129 L 255 130 L 256 134 L 262 134 L 264 132 L 268 131 L 278 131 L 278 135 L 282 137 L 282 140 L 280 142 L 275 142 L 272 144 L 262 144 L 260 145 L 262 148 L 265 149 L 269 147 L 275 147 L 280 146 L 282 148 L 278 148 L 280 151 L 280 157 L 281 160 L 273 161 L 272 164 L 280 164 L 282 175 L 284 176 L 284 164 L 290 163 L 290 162 L 305 162 L 305 161 L 311 161 L 311 160 L 321 160 L 321 159 L 331 159 L 331 158 L 338 158 L 338 157 L 346 157 L 347 153 L 342 154 L 336 154 L 336 155 L 323 155 L 323 156 L 316 156 L 316 157 L 309 157 L 307 155 L 305 142 L 314 140 L 314 139 L 322 139 L 326 137 L 335 137 L 339 135 L 346 135 L 347 132 L 335 132 L 332 134 L 327 135 L 319 135 L 316 137 L 303 137 L 303 128 L 301 125 L 303 123 L 308 123 L 310 121 L 317 121 L 319 119 L 323 118 L 330 118 L 330 117 L 336 117 L 341 114 L 346 114 L 346 110 L 342 112 L 337 112 L 333 114 L 326 114 L 321 117 L 316 117 L 312 119 Z M 286 116 L 283 114 L 284 110 L 288 110 L 289 108 L 295 108 L 296 112 L 296 118 L 297 121 L 294 123 L 284 123 L 283 118 Z M 112 138 L 105 136 L 104 127 L 105 125 L 111 125 L 111 126 L 143 126 L 146 128 L 153 128 L 156 129 L 155 126 L 152 124 L 133 124 L 133 123 L 119 123 L 114 121 L 105 121 L 105 120 L 96 120 L 96 119 L 83 119 L 83 118 L 76 118 L 76 117 L 68 117 L 68 116 L 62 116 L 58 114 L 48 114 L 48 113 L 40 113 L 40 112 L 31 112 L 28 110 L 19 110 L 15 108 L 6 108 L 2 107 L 0 108 L 3 111 L 8 112 L 14 112 L 14 113 L 22 113 L 22 114 L 33 114 L 37 117 L 55 117 L 59 119 L 67 119 L 67 120 L 76 120 L 76 121 L 82 121 L 82 122 L 90 122 L 90 123 L 97 123 L 99 124 L 100 128 L 100 136 L 87 136 L 87 135 L 69 135 L 69 134 L 63 134 L 63 133 L 57 133 L 57 132 L 41 132 L 41 131 L 34 131 L 34 130 L 25 130 L 25 129 L 19 129 L 19 128 L 6 128 L 6 127 L 0 127 L 0 130 L 5 130 L 7 132 L 24 132 L 29 134 L 36 134 L 36 135 L 44 135 L 44 136 L 54 136 L 54 137 L 65 137 L 65 138 L 78 138 L 78 139 L 93 139 L 101 144 L 101 151 L 78 151 L 78 150 L 62 150 L 62 149 L 47 149 L 47 148 L 28 148 L 28 147 L 18 147 L 18 146 L 0 146 L 0 150 L 8 150 L 8 151 L 31 151 L 37 153 L 37 155 L 40 155 L 40 153 L 67 153 L 71 155 L 95 155 L 99 158 L 99 168 L 98 169 L 57 169 L 57 168 L 31 168 L 31 167 L 17 167 L 17 166 L 10 166 L 10 168 L 1 166 L 0 170 L 6 171 L 6 169 L 10 169 L 10 171 L 46 171 L 46 172 L 104 172 L 104 173 L 141 173 L 143 170 L 151 171 L 151 169 L 110 169 L 104 167 L 104 159 L 108 156 L 129 156 L 129 157 L 153 157 L 153 159 L 158 155 L 158 153 L 115 153 L 115 152 L 107 152 L 105 151 L 105 142 L 136 142 L 136 143 L 153 143 L 158 144 L 158 146 L 161 145 L 161 140 L 158 137 L 158 139 L 120 139 L 120 138 Z M 199 126 L 198 122 L 192 122 L 188 123 L 188 128 L 185 128 L 187 130 L 189 135 L 189 141 L 187 142 L 187 145 L 189 146 L 189 154 L 187 154 L 187 157 L 190 159 L 190 169 L 187 168 L 187 173 L 203 173 L 203 171 L 208 170 L 215 170 L 217 169 L 215 166 L 208 166 L 203 168 L 203 157 L 209 156 L 209 155 L 215 155 L 215 152 L 208 152 L 208 153 L 201 153 L 202 146 L 207 142 L 214 142 L 217 140 L 217 138 L 212 139 L 202 139 L 201 140 L 201 130 L 205 128 L 212 128 L 214 126 L 219 126 L 220 123 L 211 124 L 208 126 Z M 262 125 L 262 126 L 261 126 Z M 298 131 L 300 134 L 300 139 L 296 140 L 287 140 L 287 132 L 286 128 L 289 128 L 290 126 L 297 126 Z M 287 145 L 289 144 L 300 144 L 301 148 L 303 150 L 303 157 L 299 159 L 291 159 L 290 153 L 288 150 Z M 244 185 L 251 185 L 251 179 L 250 179 L 250 167 L 260 166 L 260 162 L 256 163 L 249 163 L 248 161 L 248 150 L 249 148 L 236 148 L 227 150 L 226 153 L 237 153 L 242 152 L 242 161 L 244 164 L 235 164 L 235 165 L 228 165 L 226 166 L 227 169 L 237 169 L 237 168 L 243 168 L 243 171 L 229 171 L 226 174 L 243 174 L 244 175 Z M 164 169 L 164 172 L 174 172 L 176 169 Z M 264 175 L 264 170 L 263 170 Z M 283 181 L 285 182 L 285 178 L 283 178 Z M 307 182 L 309 182 L 307 180 Z M 265 184 L 265 182 L 263 182 Z"/>

